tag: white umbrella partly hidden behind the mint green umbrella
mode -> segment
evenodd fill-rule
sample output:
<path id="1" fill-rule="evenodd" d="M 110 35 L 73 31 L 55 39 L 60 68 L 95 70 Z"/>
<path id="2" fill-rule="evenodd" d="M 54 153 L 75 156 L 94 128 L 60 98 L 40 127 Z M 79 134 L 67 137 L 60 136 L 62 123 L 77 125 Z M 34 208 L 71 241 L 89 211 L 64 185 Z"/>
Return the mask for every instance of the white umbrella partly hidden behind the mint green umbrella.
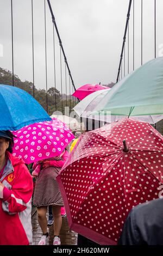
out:
<path id="1" fill-rule="evenodd" d="M 125 115 L 107 115 L 103 113 L 90 114 L 94 111 L 99 102 L 103 102 L 103 98 L 110 91 L 109 89 L 99 90 L 88 96 L 86 96 L 82 101 L 80 101 L 73 109 L 79 115 L 79 117 L 89 118 L 104 121 L 106 123 L 116 122 L 122 118 L 126 118 Z M 149 124 L 155 124 L 161 119 L 163 115 L 140 115 L 135 116 L 134 119 L 145 121 Z"/>

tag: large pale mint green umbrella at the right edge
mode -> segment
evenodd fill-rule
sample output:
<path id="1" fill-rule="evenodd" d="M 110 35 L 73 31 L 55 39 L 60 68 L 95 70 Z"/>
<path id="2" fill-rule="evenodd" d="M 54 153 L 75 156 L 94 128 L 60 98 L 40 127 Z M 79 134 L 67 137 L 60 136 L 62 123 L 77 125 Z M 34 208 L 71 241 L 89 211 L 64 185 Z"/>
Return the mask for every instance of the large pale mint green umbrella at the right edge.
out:
<path id="1" fill-rule="evenodd" d="M 163 57 L 153 59 L 124 77 L 103 97 L 91 114 L 163 114 Z"/>

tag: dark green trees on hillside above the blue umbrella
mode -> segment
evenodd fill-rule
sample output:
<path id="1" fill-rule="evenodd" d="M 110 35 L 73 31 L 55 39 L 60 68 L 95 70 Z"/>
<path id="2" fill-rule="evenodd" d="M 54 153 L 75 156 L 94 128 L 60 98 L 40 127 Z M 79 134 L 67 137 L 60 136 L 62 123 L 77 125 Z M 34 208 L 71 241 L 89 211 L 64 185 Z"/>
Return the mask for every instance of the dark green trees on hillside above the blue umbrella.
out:
<path id="1" fill-rule="evenodd" d="M 12 86 L 12 72 L 7 69 L 0 68 L 0 84 L 8 84 Z M 47 110 L 47 102 L 48 102 L 48 114 L 52 115 L 54 111 L 61 111 L 64 114 L 64 107 L 70 107 L 70 111 L 72 111 L 72 107 L 74 107 L 77 103 L 77 100 L 67 95 L 62 94 L 62 102 L 61 102 L 61 94 L 58 89 L 55 89 L 54 86 L 48 89 L 47 93 L 45 89 L 36 89 L 33 86 L 32 82 L 24 81 L 22 82 L 17 75 L 14 75 L 14 86 L 25 90 L 27 93 L 33 96 L 40 103 L 40 105 Z M 55 104 L 56 99 L 56 104 Z M 55 105 L 57 109 L 55 109 Z M 63 111 L 62 111 L 63 110 Z"/>

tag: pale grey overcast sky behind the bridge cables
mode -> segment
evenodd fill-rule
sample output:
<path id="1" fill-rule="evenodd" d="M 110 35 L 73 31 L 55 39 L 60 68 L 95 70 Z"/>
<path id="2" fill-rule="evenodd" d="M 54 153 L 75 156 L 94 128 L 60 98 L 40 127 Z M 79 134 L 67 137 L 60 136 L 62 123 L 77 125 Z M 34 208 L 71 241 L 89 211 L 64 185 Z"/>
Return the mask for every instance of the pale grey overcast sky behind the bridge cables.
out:
<path id="1" fill-rule="evenodd" d="M 33 81 L 31 0 L 12 0 L 14 73 Z M 116 81 L 129 0 L 51 0 L 67 62 L 76 88 L 86 83 Z M 33 0 L 36 88 L 46 88 L 44 0 Z M 156 0 L 156 52 L 163 44 L 163 1 Z M 12 70 L 11 1 L 0 0 L 0 66 Z M 54 86 L 53 25 L 46 1 L 47 82 Z M 133 70 L 133 8 L 129 24 L 129 60 Z M 55 34 L 57 88 L 60 90 L 60 48 Z M 126 44 L 126 48 L 127 48 Z M 127 52 L 127 51 L 126 51 Z M 127 55 L 126 55 L 127 58 Z M 143 0 L 143 63 L 154 58 L 154 0 Z M 141 65 L 141 0 L 135 0 L 135 68 Z M 127 63 L 126 63 L 127 70 Z M 68 76 L 67 76 L 68 80 Z M 65 64 L 62 59 L 65 92 Z"/>

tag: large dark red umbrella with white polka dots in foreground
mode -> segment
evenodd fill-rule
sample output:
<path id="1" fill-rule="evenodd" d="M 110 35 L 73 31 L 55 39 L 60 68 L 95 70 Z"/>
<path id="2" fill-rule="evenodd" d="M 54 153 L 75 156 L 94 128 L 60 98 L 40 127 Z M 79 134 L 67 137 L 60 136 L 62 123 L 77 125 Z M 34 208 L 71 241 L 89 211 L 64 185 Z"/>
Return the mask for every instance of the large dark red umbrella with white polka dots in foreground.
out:
<path id="1" fill-rule="evenodd" d="M 133 206 L 159 197 L 163 137 L 133 119 L 84 133 L 57 180 L 70 228 L 116 245 Z"/>

